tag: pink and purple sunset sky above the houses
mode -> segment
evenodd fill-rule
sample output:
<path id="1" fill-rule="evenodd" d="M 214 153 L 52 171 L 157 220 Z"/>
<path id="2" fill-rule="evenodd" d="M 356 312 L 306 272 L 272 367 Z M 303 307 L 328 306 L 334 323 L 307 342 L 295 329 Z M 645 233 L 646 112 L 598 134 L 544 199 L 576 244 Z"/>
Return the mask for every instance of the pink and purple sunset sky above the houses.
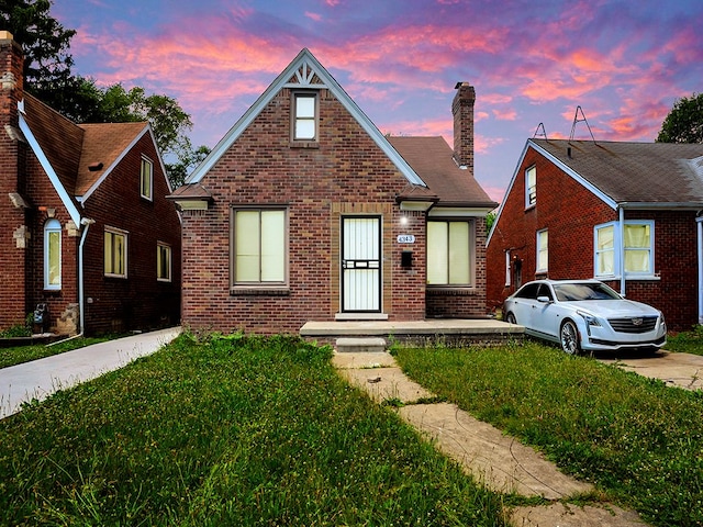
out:
<path id="1" fill-rule="evenodd" d="M 476 87 L 476 169 L 501 201 L 539 123 L 568 138 L 656 138 L 703 91 L 701 0 L 56 0 L 74 72 L 175 98 L 213 147 L 308 47 L 382 133 L 451 145 Z M 542 132 L 542 131 L 540 131 Z M 576 138 L 590 138 L 579 123 Z"/>

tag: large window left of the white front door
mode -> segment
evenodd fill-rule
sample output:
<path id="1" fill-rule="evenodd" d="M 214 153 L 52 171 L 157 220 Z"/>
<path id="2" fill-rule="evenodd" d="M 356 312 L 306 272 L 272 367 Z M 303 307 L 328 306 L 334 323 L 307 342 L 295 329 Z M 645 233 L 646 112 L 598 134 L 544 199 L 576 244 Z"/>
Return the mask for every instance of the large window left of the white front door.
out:
<path id="1" fill-rule="evenodd" d="M 288 281 L 286 209 L 233 209 L 231 221 L 232 285 L 284 285 Z"/>

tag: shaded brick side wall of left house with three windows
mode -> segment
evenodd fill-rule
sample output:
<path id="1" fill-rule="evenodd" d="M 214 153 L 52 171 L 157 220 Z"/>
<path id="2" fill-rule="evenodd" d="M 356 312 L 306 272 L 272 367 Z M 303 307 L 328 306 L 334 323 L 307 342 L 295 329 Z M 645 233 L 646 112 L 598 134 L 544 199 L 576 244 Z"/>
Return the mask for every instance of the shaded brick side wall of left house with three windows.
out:
<path id="1" fill-rule="evenodd" d="M 153 201 L 140 195 L 142 154 L 154 160 Z M 180 322 L 180 222 L 167 194 L 154 143 L 145 134 L 86 200 L 83 214 L 96 221 L 85 244 L 88 333 L 146 330 Z M 127 232 L 126 279 L 104 276 L 105 226 Z M 170 282 L 157 280 L 158 242 L 171 247 Z"/>

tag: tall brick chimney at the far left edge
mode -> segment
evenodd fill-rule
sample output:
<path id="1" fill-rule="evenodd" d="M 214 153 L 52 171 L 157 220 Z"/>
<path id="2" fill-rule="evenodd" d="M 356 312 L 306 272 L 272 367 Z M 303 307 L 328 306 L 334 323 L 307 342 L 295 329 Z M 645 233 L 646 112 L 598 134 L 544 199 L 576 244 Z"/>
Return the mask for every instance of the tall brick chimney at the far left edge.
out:
<path id="1" fill-rule="evenodd" d="M 29 309 L 29 218 L 19 138 L 18 103 L 24 98 L 22 47 L 0 31 L 0 328 L 24 322 Z"/>

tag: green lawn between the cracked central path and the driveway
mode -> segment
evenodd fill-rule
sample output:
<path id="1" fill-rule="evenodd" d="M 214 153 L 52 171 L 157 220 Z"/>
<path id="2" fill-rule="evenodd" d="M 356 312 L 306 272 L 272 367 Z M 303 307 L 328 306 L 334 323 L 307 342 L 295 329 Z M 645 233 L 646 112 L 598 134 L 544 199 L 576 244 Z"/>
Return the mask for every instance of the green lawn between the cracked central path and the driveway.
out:
<path id="1" fill-rule="evenodd" d="M 652 525 L 703 525 L 703 392 L 536 343 L 395 354 L 423 386 Z"/>

